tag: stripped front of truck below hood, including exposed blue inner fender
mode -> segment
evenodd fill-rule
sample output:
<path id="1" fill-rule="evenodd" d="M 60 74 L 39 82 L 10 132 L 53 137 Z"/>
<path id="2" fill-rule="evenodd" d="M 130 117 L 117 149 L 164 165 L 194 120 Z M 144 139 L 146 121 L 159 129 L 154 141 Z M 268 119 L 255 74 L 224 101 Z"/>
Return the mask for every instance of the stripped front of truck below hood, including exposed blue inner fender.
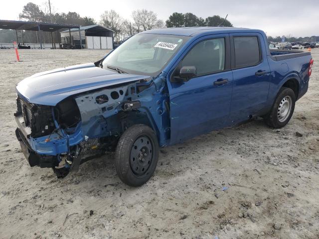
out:
<path id="1" fill-rule="evenodd" d="M 30 166 L 51 167 L 59 178 L 112 151 L 130 119 L 143 120 L 136 84 L 68 97 L 56 106 L 17 98 L 16 137 Z M 130 119 L 126 119 L 130 114 Z"/>

